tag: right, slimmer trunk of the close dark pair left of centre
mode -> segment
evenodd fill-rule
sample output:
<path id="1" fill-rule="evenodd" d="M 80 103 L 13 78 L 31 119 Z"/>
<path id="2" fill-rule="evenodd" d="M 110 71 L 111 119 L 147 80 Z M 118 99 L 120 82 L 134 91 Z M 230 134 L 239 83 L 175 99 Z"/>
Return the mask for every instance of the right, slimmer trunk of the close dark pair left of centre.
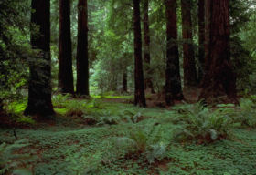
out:
<path id="1" fill-rule="evenodd" d="M 89 96 L 87 0 L 79 0 L 78 11 L 77 94 Z"/>

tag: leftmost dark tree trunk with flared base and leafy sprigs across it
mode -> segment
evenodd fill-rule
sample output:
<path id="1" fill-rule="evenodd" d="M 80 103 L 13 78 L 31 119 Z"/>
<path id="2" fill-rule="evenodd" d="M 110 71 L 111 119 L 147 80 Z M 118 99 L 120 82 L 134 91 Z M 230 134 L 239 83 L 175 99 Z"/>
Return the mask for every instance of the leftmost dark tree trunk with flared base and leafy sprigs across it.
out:
<path id="1" fill-rule="evenodd" d="M 25 115 L 47 117 L 54 114 L 50 86 L 50 1 L 32 0 L 31 5 L 35 10 L 31 14 L 31 22 L 38 26 L 39 34 L 31 31 L 31 46 L 37 52 L 37 57 L 29 61 L 30 79 Z"/>

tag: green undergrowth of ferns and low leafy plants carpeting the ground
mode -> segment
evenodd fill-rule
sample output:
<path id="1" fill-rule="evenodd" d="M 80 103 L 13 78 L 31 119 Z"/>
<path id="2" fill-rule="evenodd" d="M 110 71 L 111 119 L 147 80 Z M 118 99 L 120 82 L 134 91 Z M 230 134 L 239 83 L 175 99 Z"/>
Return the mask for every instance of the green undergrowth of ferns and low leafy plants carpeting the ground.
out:
<path id="1" fill-rule="evenodd" d="M 58 97 L 56 125 L 0 130 L 1 170 L 35 174 L 255 174 L 255 101 L 166 110 Z M 13 106 L 15 106 L 13 104 Z M 19 105 L 17 105 L 19 107 Z M 15 159 L 12 156 L 33 159 Z M 11 163 L 10 163 L 11 162 Z"/>

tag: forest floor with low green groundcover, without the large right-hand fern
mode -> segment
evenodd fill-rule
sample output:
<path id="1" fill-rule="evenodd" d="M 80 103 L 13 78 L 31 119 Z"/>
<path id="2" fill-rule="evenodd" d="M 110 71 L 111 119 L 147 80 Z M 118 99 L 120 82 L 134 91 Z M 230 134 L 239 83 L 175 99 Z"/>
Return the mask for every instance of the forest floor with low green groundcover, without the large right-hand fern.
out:
<path id="1" fill-rule="evenodd" d="M 131 101 L 54 98 L 58 115 L 52 120 L 22 117 L 22 129 L 0 129 L 5 167 L 37 175 L 256 174 L 256 129 L 233 127 L 226 139 L 210 142 L 176 139 L 181 125 L 174 118 L 187 107 L 136 108 Z M 16 114 L 25 106 L 10 104 Z"/>

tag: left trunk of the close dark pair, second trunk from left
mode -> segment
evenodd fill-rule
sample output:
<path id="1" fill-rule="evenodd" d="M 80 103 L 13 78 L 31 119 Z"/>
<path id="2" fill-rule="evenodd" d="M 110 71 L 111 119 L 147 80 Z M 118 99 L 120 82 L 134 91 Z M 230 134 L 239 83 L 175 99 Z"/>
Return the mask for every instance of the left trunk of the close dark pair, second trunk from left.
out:
<path id="1" fill-rule="evenodd" d="M 74 93 L 70 0 L 59 0 L 59 90 L 61 93 Z"/>

